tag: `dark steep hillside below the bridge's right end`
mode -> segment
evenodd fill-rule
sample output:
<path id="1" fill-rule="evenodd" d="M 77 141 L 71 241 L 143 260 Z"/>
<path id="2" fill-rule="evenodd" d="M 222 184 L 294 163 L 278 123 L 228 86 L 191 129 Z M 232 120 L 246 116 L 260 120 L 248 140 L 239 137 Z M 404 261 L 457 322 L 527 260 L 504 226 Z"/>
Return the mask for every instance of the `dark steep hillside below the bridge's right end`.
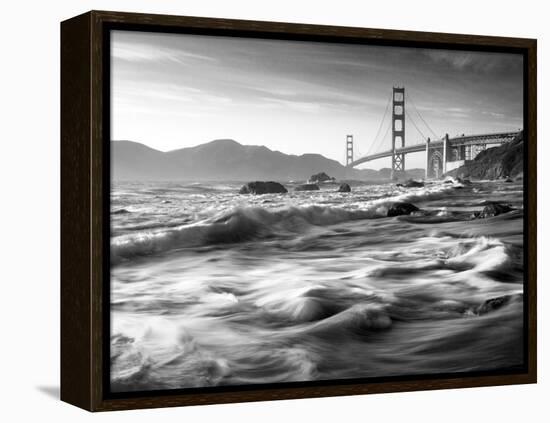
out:
<path id="1" fill-rule="evenodd" d="M 523 174 L 523 132 L 509 143 L 488 148 L 477 157 L 447 173 L 473 179 L 515 178 Z"/>

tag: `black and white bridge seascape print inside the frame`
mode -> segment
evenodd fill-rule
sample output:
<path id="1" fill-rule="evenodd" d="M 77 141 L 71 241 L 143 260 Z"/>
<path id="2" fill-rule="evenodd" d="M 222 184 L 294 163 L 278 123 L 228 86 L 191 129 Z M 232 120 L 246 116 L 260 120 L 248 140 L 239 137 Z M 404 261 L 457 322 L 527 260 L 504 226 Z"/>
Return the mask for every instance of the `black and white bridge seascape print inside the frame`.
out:
<path id="1" fill-rule="evenodd" d="M 113 393 L 525 368 L 522 54 L 109 49 Z"/>

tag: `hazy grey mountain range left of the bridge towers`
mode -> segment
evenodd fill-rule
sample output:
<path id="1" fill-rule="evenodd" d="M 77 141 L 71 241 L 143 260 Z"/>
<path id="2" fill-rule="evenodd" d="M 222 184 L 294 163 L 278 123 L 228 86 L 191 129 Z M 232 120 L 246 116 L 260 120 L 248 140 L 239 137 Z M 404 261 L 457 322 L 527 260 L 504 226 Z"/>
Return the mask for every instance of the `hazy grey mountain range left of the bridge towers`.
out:
<path id="1" fill-rule="evenodd" d="M 338 180 L 386 179 L 383 172 L 348 169 L 320 154 L 289 155 L 228 139 L 166 153 L 132 141 L 111 144 L 115 180 L 302 181 L 319 172 Z"/>

